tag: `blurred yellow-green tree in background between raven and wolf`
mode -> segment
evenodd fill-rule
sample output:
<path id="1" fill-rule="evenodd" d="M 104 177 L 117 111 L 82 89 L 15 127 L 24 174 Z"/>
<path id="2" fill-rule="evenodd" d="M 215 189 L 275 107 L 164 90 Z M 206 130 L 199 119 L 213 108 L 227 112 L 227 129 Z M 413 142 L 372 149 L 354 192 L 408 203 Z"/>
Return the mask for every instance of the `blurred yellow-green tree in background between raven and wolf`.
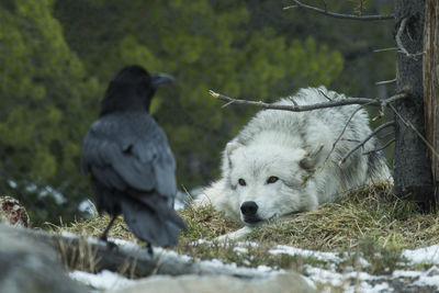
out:
<path id="1" fill-rule="evenodd" d="M 342 70 L 340 54 L 312 37 L 286 41 L 270 25 L 249 27 L 245 2 L 63 0 L 56 15 L 71 48 L 101 80 L 126 64 L 177 77 L 173 89 L 158 93 L 155 115 L 187 188 L 212 179 L 221 149 L 254 113 L 223 111 L 209 89 L 267 100 L 300 84 L 328 86 Z"/>

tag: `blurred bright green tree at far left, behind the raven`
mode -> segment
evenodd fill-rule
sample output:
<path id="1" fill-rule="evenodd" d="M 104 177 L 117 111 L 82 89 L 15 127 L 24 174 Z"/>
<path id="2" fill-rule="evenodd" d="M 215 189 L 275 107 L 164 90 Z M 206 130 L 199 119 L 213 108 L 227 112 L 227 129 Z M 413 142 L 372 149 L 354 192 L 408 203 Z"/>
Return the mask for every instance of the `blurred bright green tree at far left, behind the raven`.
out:
<path id="1" fill-rule="evenodd" d="M 79 143 L 99 89 L 66 44 L 52 2 L 0 2 L 0 187 L 35 224 L 71 219 L 66 211 L 77 210 L 86 190 Z"/>

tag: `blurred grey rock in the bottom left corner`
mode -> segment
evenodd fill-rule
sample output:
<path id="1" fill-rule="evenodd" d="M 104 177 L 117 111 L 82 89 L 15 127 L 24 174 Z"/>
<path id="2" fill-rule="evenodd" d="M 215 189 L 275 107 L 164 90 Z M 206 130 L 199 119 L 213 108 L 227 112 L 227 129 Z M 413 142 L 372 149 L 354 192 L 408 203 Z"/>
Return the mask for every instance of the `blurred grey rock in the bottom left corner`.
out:
<path id="1" fill-rule="evenodd" d="M 87 292 L 68 278 L 53 248 L 30 237 L 18 238 L 16 229 L 24 228 L 0 224 L 0 292 Z"/>

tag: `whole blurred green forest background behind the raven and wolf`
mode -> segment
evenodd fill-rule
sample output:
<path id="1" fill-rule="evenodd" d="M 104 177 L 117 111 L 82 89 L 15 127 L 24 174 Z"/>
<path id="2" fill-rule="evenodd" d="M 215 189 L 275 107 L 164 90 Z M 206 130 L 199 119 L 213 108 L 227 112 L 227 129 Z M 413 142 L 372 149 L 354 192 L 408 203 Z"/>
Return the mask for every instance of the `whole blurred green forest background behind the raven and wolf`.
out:
<path id="1" fill-rule="evenodd" d="M 322 1 L 308 1 L 319 4 Z M 177 158 L 180 189 L 218 176 L 221 150 L 256 112 L 207 91 L 274 101 L 324 84 L 384 98 L 395 78 L 393 22 L 354 22 L 262 0 L 1 0 L 0 193 L 35 226 L 86 216 L 81 142 L 110 80 L 124 66 L 171 74 L 155 119 Z M 393 1 L 328 1 L 340 13 L 389 14 Z M 371 113 L 373 115 L 373 113 Z M 381 123 L 381 122 L 374 122 Z M 392 149 L 387 151 L 392 165 Z"/>

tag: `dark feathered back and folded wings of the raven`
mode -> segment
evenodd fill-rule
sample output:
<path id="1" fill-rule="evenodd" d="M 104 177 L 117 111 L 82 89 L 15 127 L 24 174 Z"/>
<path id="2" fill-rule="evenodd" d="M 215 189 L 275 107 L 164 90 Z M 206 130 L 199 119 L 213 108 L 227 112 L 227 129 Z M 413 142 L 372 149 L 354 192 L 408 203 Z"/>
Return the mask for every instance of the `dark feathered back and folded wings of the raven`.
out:
<path id="1" fill-rule="evenodd" d="M 82 170 L 106 188 L 155 190 L 173 199 L 176 161 L 165 132 L 145 112 L 101 117 L 82 148 Z"/>

